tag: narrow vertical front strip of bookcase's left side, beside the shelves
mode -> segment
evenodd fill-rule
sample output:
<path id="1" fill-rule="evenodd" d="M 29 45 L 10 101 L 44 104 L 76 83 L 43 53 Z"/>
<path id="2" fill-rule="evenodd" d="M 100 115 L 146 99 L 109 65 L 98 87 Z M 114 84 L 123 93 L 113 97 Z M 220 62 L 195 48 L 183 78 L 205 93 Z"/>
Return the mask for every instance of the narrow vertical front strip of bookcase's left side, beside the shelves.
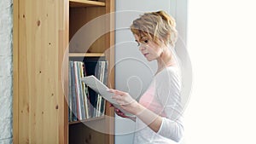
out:
<path id="1" fill-rule="evenodd" d="M 68 107 L 67 107 L 67 96 L 68 96 L 68 29 L 69 29 L 69 3 L 68 0 L 60 1 L 60 6 L 58 7 L 58 27 L 59 29 L 59 55 L 58 58 L 58 68 L 59 68 L 59 77 L 58 85 L 59 91 L 61 94 L 58 95 L 58 106 L 55 108 L 58 109 L 58 127 L 59 127 L 59 143 L 67 144 L 68 143 Z M 62 74 L 62 75 L 61 75 Z M 64 91 L 64 93 L 63 93 Z M 65 98 L 64 98 L 65 97 Z"/>

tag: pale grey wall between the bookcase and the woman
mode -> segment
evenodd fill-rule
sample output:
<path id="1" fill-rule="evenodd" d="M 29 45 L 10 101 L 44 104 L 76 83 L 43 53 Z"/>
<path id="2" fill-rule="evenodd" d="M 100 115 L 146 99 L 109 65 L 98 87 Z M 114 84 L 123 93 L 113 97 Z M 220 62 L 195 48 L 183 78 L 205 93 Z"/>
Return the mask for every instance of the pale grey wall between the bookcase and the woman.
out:
<path id="1" fill-rule="evenodd" d="M 186 41 L 186 0 L 116 0 L 115 72 L 116 89 L 125 90 L 132 96 L 143 94 L 156 70 L 156 63 L 148 62 L 137 49 L 137 43 L 130 30 L 132 20 L 143 12 L 165 10 L 177 20 L 177 31 Z M 115 143 L 131 144 L 134 122 L 116 116 Z"/>

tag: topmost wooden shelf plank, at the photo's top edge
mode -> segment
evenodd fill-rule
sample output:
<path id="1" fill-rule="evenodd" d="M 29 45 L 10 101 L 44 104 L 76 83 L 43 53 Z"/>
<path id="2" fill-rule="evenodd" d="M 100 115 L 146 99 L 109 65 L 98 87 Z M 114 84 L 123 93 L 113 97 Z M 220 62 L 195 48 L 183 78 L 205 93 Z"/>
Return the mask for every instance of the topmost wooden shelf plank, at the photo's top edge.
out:
<path id="1" fill-rule="evenodd" d="M 106 3 L 89 0 L 69 0 L 70 7 L 105 7 Z"/>

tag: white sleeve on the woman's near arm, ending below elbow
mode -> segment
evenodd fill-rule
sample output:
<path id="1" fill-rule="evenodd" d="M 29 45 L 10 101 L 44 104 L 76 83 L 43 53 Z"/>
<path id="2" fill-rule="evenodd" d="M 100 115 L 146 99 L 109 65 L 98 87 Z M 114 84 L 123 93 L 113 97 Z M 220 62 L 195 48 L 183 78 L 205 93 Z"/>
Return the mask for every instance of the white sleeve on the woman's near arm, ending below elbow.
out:
<path id="1" fill-rule="evenodd" d="M 167 71 L 156 79 L 156 95 L 166 114 L 157 133 L 172 141 L 180 141 L 183 137 L 181 79 L 178 76 L 175 71 Z"/>

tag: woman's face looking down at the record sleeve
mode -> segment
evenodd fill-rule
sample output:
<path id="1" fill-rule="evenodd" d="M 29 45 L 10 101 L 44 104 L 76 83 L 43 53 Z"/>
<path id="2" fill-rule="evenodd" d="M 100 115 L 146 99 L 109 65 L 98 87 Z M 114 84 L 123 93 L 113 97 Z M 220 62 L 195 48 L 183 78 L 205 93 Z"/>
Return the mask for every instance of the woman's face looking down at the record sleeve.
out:
<path id="1" fill-rule="evenodd" d="M 140 38 L 135 34 L 134 35 L 136 42 L 138 43 L 139 50 L 145 56 L 148 61 L 157 60 L 160 58 L 162 49 L 152 40 L 149 40 L 148 37 Z"/>

